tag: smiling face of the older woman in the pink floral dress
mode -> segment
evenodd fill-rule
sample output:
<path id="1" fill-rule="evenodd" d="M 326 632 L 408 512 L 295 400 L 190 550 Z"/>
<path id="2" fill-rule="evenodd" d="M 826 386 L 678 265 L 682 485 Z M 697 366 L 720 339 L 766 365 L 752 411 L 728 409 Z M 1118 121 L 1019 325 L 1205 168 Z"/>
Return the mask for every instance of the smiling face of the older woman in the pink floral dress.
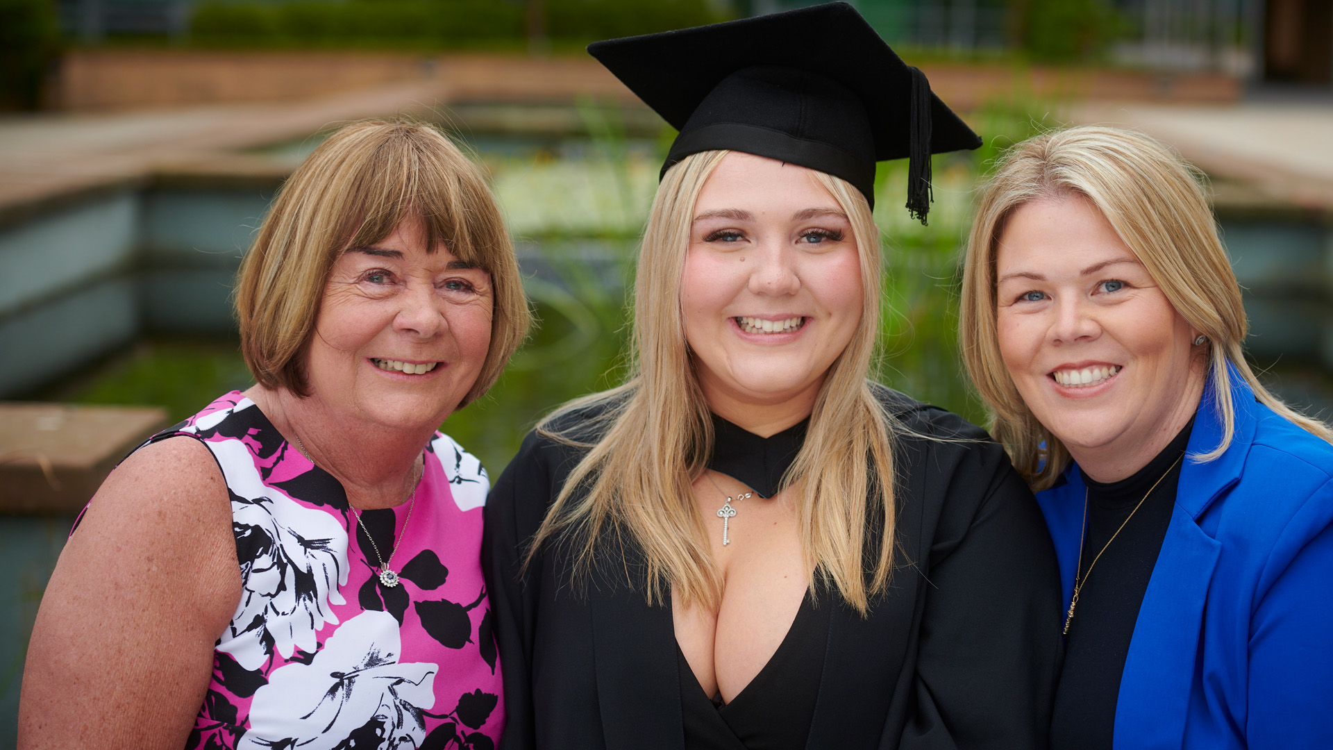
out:
<path id="1" fill-rule="evenodd" d="M 344 415 L 388 427 L 437 426 L 477 379 L 491 346 L 485 271 L 420 224 L 343 252 L 333 263 L 307 352 L 312 394 Z"/>

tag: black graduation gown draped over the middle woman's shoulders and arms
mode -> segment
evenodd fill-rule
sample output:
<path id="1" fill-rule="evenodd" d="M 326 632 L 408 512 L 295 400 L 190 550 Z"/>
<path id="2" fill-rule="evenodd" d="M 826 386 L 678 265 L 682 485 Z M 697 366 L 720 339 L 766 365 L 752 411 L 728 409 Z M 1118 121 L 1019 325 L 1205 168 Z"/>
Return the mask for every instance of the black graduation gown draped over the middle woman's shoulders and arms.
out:
<path id="1" fill-rule="evenodd" d="M 806 747 L 1045 747 L 1061 613 L 1037 504 L 981 428 L 878 392 L 917 434 L 896 452 L 896 569 L 869 617 L 833 597 Z M 559 546 L 520 575 L 580 456 L 531 434 L 487 503 L 483 565 L 508 714 L 500 747 L 684 750 L 669 602 L 648 606 L 623 578 L 571 585 Z"/>

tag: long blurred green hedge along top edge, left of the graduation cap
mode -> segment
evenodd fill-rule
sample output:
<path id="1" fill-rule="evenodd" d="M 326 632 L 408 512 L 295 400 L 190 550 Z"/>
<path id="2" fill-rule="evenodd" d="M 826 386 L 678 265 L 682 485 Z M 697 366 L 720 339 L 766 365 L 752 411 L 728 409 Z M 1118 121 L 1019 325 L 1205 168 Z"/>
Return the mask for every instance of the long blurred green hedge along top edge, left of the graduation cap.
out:
<path id="1" fill-rule="evenodd" d="M 4 0 L 15 1 L 15 0 Z M 725 20 L 708 0 L 545 0 L 551 37 L 589 41 Z M 216 47 L 487 47 L 519 43 L 527 11 L 507 0 L 208 0 L 191 44 Z"/>

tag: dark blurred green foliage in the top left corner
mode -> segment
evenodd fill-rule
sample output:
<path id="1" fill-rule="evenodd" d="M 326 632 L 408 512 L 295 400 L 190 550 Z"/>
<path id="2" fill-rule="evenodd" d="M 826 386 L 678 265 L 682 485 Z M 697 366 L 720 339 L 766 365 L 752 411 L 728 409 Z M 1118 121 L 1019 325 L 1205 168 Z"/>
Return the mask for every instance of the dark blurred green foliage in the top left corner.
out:
<path id="1" fill-rule="evenodd" d="M 0 0 L 0 109 L 33 109 L 60 53 L 53 0 Z"/>

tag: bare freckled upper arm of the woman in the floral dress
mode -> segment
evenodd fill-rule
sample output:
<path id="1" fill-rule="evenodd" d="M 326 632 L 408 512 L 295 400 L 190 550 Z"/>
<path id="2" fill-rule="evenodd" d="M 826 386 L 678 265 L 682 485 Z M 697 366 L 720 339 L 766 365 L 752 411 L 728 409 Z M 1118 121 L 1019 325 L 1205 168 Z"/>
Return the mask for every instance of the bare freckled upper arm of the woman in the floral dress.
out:
<path id="1" fill-rule="evenodd" d="M 47 585 L 19 747 L 181 747 L 240 594 L 212 454 L 184 436 L 136 451 L 97 490 Z"/>

